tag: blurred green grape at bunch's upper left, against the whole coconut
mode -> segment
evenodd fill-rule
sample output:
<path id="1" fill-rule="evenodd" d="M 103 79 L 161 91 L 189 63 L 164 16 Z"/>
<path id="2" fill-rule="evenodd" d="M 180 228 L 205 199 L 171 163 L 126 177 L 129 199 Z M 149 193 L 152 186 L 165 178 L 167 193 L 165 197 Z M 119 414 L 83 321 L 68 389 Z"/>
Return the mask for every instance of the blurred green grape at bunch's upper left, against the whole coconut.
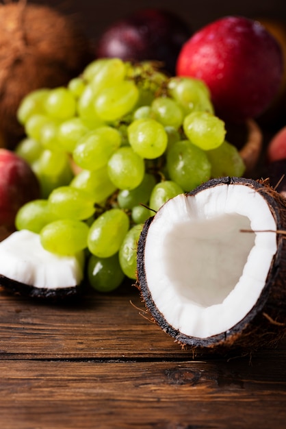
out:
<path id="1" fill-rule="evenodd" d="M 18 122 L 25 125 L 34 114 L 44 114 L 44 101 L 49 94 L 49 89 L 41 88 L 27 94 L 21 101 L 16 112 Z"/>

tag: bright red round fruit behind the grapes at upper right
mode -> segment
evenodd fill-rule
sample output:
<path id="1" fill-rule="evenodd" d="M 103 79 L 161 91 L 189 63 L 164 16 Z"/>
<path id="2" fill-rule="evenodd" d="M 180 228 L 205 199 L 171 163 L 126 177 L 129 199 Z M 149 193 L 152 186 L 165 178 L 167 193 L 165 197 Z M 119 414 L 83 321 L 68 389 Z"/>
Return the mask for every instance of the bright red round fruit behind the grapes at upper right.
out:
<path id="1" fill-rule="evenodd" d="M 283 55 L 257 21 L 226 16 L 203 27 L 183 45 L 177 75 L 203 79 L 216 113 L 225 120 L 257 117 L 281 85 Z"/>

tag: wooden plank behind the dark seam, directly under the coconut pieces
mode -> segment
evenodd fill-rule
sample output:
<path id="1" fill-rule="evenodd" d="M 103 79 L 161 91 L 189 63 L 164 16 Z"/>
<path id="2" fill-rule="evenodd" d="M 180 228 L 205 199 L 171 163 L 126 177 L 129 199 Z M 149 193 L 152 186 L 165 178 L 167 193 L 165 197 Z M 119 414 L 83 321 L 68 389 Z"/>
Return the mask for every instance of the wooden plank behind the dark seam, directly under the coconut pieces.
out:
<path id="1" fill-rule="evenodd" d="M 192 357 L 143 311 L 139 293 L 130 285 L 112 294 L 90 292 L 81 302 L 66 306 L 1 293 L 0 354 L 5 358 Z M 286 350 L 285 343 L 278 350 Z"/>

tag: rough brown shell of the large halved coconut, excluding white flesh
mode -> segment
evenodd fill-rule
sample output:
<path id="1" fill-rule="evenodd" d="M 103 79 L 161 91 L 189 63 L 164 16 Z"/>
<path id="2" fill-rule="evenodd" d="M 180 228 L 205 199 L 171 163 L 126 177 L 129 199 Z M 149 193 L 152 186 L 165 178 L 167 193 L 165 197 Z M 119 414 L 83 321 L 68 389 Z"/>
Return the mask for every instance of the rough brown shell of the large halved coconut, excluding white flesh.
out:
<path id="1" fill-rule="evenodd" d="M 164 315 L 159 312 L 146 282 L 144 247 L 148 228 L 154 217 L 148 219 L 144 224 L 138 242 L 137 286 L 151 318 L 164 332 L 172 336 L 174 341 L 192 350 L 193 353 L 216 352 L 225 354 L 232 350 L 251 352 L 260 347 L 273 347 L 286 334 L 286 236 L 283 233 L 286 231 L 286 199 L 264 182 L 237 177 L 210 180 L 198 186 L 189 195 L 196 195 L 206 188 L 220 184 L 243 184 L 259 192 L 270 207 L 276 220 L 277 230 L 281 231 L 280 234 L 276 234 L 277 252 L 272 260 L 265 286 L 252 310 L 231 329 L 206 339 L 185 336 L 170 326 Z"/>

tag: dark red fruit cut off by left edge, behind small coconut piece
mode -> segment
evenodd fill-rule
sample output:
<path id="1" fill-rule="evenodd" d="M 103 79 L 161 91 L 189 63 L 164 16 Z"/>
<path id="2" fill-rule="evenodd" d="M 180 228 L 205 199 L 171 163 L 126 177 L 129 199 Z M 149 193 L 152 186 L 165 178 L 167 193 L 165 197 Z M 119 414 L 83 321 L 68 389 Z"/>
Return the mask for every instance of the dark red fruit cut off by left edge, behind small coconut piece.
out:
<path id="1" fill-rule="evenodd" d="M 18 209 L 40 197 L 38 179 L 25 160 L 0 149 L 0 240 L 15 230 Z"/>

